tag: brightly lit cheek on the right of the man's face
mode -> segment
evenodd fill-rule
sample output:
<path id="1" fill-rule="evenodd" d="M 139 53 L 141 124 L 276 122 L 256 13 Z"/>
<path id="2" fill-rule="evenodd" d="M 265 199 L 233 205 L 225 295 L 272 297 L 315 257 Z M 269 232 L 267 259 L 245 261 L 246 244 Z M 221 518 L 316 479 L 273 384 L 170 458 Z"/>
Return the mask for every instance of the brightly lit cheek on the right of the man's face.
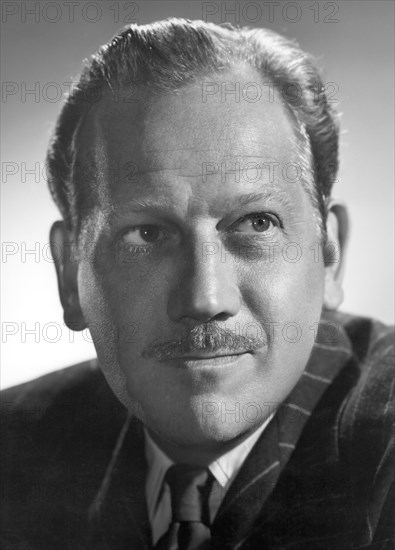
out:
<path id="1" fill-rule="evenodd" d="M 292 388 L 314 344 L 323 305 L 324 267 L 314 262 L 310 252 L 306 247 L 298 261 L 281 257 L 270 265 L 255 265 L 244 277 L 246 309 L 264 326 L 269 339 L 273 393 Z"/>

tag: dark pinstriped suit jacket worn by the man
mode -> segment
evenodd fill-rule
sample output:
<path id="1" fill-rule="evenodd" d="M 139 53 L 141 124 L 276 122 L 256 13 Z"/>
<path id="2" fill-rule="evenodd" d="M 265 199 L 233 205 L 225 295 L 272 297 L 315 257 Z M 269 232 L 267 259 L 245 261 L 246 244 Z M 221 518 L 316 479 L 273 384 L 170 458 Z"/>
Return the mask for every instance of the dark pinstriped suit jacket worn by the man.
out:
<path id="1" fill-rule="evenodd" d="M 392 331 L 323 317 L 299 382 L 212 525 L 214 549 L 390 550 Z M 141 423 L 96 361 L 2 395 L 4 550 L 152 548 Z"/>

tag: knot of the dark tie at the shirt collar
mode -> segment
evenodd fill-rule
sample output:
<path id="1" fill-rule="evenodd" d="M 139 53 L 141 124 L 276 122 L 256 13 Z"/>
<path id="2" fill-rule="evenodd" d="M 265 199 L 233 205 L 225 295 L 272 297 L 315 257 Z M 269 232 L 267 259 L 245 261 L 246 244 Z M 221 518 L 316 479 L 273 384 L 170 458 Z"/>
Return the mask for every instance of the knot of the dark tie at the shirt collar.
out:
<path id="1" fill-rule="evenodd" d="M 208 497 L 212 475 L 207 468 L 174 464 L 165 476 L 170 488 L 172 521 L 194 521 L 207 525 Z"/>

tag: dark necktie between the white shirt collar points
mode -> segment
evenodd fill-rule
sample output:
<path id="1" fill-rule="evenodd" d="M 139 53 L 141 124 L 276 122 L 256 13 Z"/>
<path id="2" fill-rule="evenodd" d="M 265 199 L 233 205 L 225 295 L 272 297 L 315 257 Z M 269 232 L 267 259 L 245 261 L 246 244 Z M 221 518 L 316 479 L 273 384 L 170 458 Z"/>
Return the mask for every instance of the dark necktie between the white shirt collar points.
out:
<path id="1" fill-rule="evenodd" d="M 210 547 L 208 500 L 214 477 L 189 464 L 174 464 L 165 476 L 171 496 L 172 520 L 155 550 L 206 550 Z"/>

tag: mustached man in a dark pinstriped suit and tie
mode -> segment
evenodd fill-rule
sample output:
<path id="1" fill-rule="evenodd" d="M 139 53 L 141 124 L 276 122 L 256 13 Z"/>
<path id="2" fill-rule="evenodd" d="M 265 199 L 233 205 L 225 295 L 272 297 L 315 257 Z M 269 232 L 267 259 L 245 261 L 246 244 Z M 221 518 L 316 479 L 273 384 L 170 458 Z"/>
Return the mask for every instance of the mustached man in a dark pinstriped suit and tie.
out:
<path id="1" fill-rule="evenodd" d="M 91 59 L 48 165 L 98 365 L 4 393 L 3 548 L 393 548 L 392 333 L 336 312 L 337 154 L 273 32 L 170 19 Z"/>

